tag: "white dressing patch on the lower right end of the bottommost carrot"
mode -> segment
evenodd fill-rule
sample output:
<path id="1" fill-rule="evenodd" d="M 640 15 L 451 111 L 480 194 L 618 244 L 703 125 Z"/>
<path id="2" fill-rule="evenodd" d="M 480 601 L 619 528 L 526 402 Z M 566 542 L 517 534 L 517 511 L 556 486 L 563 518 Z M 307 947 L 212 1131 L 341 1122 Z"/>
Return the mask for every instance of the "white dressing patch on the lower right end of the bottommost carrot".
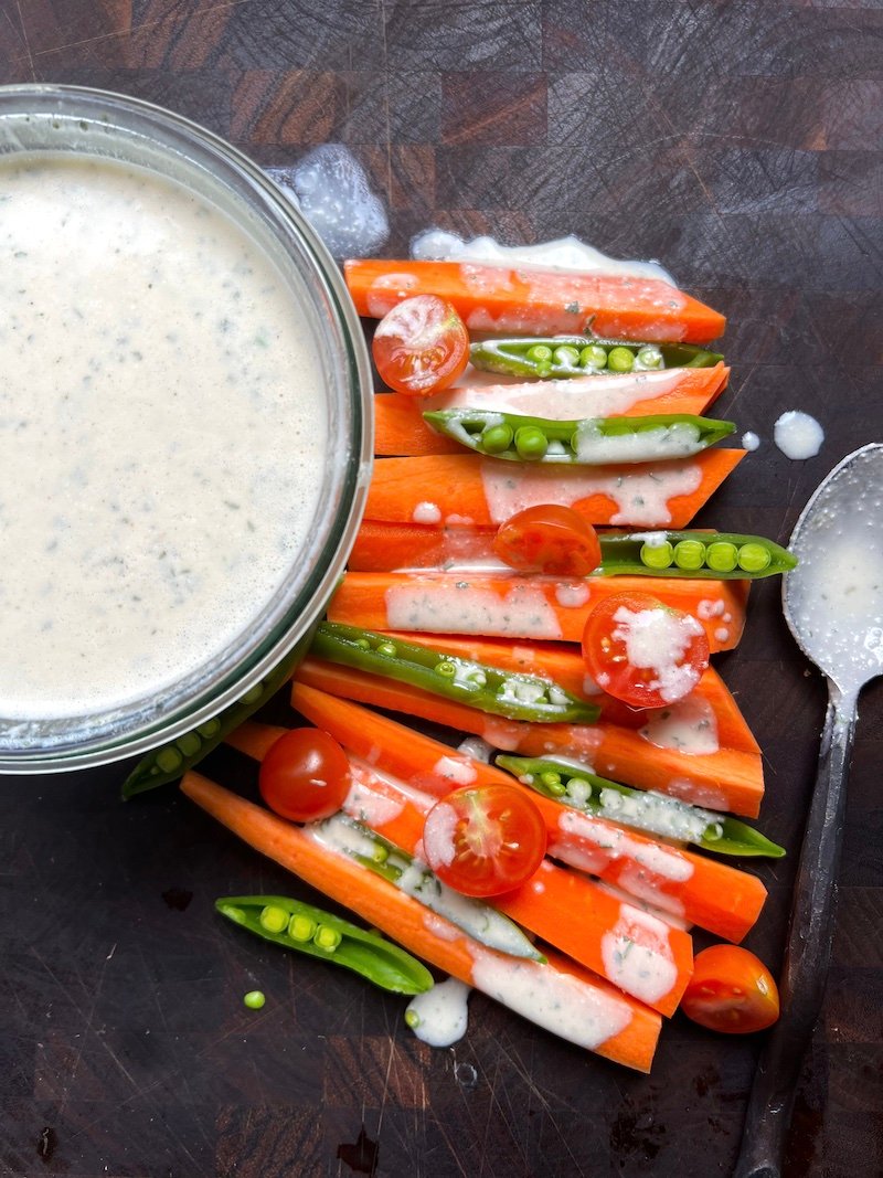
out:
<path id="1" fill-rule="evenodd" d="M 471 952 L 476 990 L 579 1047 L 595 1050 L 631 1023 L 629 1004 L 606 988 L 533 961 Z"/>

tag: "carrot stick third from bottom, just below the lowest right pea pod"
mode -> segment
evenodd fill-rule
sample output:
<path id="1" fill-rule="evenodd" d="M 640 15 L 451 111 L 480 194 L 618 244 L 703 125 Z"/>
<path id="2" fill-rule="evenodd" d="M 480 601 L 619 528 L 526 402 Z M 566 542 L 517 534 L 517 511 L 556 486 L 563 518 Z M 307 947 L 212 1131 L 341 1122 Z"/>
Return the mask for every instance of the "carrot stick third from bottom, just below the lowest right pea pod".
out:
<path id="1" fill-rule="evenodd" d="M 293 684 L 292 703 L 363 761 L 370 757 L 423 795 L 444 798 L 464 785 L 512 782 L 492 765 L 304 683 Z M 251 755 L 263 756 L 258 739 L 252 739 Z M 578 814 L 540 794 L 531 798 L 545 819 L 556 858 L 728 940 L 742 940 L 757 920 L 766 889 L 756 875 L 691 851 L 660 847 L 648 834 L 624 833 L 606 819 Z"/>

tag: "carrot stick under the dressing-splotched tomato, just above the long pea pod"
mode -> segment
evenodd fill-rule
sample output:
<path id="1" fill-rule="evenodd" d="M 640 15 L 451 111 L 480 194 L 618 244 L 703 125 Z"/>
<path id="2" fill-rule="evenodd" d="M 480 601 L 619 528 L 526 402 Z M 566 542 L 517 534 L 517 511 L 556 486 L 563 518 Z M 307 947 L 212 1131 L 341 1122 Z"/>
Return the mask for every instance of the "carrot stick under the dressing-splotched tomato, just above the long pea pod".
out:
<path id="1" fill-rule="evenodd" d="M 739 749 L 743 753 L 761 752 L 738 704 L 713 667 L 708 668 L 685 700 L 665 709 L 648 712 L 644 708 L 629 708 L 603 691 L 592 689 L 591 693 L 586 693 L 586 686 L 591 684 L 587 684 L 585 662 L 577 646 L 564 642 L 526 643 L 477 636 L 460 638 L 451 634 L 412 634 L 399 630 L 386 633 L 391 641 L 403 638 L 406 642 L 432 647 L 444 654 L 471 659 L 489 667 L 499 667 L 500 670 L 550 679 L 572 695 L 596 703 L 600 708 L 602 720 L 610 720 L 625 728 L 643 728 L 660 710 L 682 717 L 692 714 L 697 719 L 705 720 L 710 713 L 717 730 L 717 742 L 722 748 Z"/>

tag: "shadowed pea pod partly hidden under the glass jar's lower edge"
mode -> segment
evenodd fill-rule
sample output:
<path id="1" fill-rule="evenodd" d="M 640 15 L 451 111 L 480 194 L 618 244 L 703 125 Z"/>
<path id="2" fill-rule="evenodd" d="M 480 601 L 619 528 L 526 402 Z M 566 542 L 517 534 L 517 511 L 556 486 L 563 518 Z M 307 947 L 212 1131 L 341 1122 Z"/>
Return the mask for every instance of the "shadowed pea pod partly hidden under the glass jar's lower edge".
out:
<path id="1" fill-rule="evenodd" d="M 235 703 L 231 703 L 217 716 L 204 721 L 167 744 L 151 749 L 142 756 L 122 782 L 122 800 L 128 801 L 137 794 L 144 794 L 148 789 L 157 789 L 170 781 L 177 781 L 184 776 L 187 769 L 192 769 L 204 756 L 207 756 L 213 748 L 220 744 L 227 733 L 238 728 L 253 712 L 257 712 L 275 695 L 286 680 L 291 679 L 306 653 L 306 646 L 311 637 L 312 631 L 298 642 L 266 679 L 255 683 Z"/>

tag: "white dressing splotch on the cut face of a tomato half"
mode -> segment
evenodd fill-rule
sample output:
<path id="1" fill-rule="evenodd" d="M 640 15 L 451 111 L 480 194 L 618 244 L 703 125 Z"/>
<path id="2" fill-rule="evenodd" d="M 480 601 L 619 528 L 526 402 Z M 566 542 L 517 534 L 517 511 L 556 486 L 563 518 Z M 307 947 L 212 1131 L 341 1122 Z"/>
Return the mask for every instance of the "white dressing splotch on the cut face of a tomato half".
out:
<path id="1" fill-rule="evenodd" d="M 668 609 L 631 610 L 620 605 L 613 614 L 615 640 L 625 643 L 632 667 L 650 670 L 648 687 L 666 702 L 680 700 L 699 681 L 699 671 L 682 663 L 690 643 L 703 634 L 703 627 L 691 614 L 677 615 Z"/>

